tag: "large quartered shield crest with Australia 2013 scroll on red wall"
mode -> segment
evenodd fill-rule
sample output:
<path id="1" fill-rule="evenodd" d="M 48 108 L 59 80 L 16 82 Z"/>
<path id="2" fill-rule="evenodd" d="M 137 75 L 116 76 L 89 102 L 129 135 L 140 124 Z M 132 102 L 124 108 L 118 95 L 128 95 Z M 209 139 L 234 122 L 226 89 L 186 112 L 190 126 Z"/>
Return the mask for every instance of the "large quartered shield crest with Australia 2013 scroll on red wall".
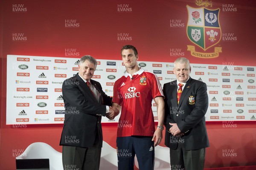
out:
<path id="1" fill-rule="evenodd" d="M 197 3 L 196 3 L 197 4 Z M 197 4 L 198 6 L 201 4 Z M 221 47 L 216 46 L 221 40 L 221 27 L 219 23 L 220 9 L 207 9 L 205 7 L 193 8 L 186 6 L 188 11 L 187 36 L 189 40 L 204 52 L 197 52 L 197 48 L 188 45 L 191 55 L 198 58 L 216 58 L 221 52 Z M 207 52 L 207 49 L 214 50 Z M 212 48 L 211 48 L 212 49 Z"/>

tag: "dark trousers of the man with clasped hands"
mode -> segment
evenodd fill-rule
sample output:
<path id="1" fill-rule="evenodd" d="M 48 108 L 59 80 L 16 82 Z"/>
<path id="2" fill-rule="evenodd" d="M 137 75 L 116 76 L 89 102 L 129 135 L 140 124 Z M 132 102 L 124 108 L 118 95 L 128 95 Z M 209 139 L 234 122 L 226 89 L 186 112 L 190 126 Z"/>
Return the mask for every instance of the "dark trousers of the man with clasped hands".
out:
<path id="1" fill-rule="evenodd" d="M 179 143 L 176 150 L 170 149 L 171 170 L 204 170 L 205 148 L 185 150 Z"/>

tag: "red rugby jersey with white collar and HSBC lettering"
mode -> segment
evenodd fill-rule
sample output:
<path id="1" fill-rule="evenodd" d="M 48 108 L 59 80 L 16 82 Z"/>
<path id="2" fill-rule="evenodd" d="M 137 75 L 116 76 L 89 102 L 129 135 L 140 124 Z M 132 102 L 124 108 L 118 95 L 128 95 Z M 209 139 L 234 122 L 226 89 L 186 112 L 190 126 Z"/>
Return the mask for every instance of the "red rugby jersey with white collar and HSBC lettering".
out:
<path id="1" fill-rule="evenodd" d="M 163 96 L 157 75 L 141 68 L 133 76 L 125 72 L 114 84 L 113 103 L 122 106 L 117 137 L 154 135 L 152 99 Z"/>

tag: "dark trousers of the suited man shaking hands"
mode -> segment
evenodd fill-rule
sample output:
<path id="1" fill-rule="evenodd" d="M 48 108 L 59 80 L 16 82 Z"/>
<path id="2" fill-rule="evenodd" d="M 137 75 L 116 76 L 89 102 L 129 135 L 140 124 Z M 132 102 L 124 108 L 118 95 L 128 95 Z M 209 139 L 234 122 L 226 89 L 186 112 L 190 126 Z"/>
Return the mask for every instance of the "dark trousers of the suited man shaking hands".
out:
<path id="1" fill-rule="evenodd" d="M 64 170 L 99 170 L 101 146 L 99 142 L 92 147 L 62 147 Z"/>

